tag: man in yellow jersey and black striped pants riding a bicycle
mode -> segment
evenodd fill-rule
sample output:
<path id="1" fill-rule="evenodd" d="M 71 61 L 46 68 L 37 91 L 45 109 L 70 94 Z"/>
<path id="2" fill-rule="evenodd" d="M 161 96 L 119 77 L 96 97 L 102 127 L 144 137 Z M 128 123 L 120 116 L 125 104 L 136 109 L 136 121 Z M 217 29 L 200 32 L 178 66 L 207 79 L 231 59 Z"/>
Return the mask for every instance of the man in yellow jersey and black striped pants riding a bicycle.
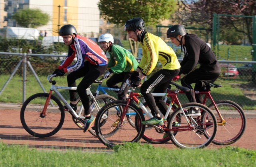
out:
<path id="1" fill-rule="evenodd" d="M 145 31 L 142 18 L 128 20 L 124 25 L 124 31 L 127 31 L 129 38 L 139 41 L 142 46 L 141 61 L 130 77 L 132 86 L 138 86 L 141 79 L 152 73 L 158 60 L 162 64 L 162 69 L 154 73 L 140 88 L 152 115 L 155 116 L 142 122 L 142 124 L 162 126 L 164 124 L 163 118 L 160 117 L 158 108 L 165 115 L 167 106 L 162 97 L 152 95 L 152 89 L 154 88 L 153 92 L 156 93 L 166 92 L 170 81 L 180 72 L 180 63 L 171 47 L 160 37 Z"/>

